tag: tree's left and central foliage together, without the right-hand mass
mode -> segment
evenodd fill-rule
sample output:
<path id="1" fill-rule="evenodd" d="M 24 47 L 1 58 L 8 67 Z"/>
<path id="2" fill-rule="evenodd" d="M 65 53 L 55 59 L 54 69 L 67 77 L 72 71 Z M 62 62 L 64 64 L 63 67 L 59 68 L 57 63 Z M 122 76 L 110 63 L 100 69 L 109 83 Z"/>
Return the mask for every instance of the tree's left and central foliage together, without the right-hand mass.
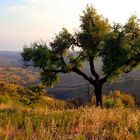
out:
<path id="1" fill-rule="evenodd" d="M 89 56 L 99 56 L 103 39 L 110 30 L 107 19 L 88 5 L 80 20 L 81 30 L 78 33 L 71 34 L 62 28 L 49 46 L 40 42 L 32 44 L 30 48 L 24 47 L 21 54 L 23 61 L 41 69 L 41 80 L 46 85 L 56 84 L 59 73 L 81 68 L 84 61 L 89 61 Z M 79 47 L 79 51 L 76 51 L 76 47 Z"/>

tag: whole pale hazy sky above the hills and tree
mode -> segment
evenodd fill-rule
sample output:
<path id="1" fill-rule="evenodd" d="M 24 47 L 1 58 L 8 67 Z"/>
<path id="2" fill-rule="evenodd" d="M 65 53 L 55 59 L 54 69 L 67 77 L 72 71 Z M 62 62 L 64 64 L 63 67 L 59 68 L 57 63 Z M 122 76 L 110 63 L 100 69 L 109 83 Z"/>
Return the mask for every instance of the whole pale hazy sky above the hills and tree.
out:
<path id="1" fill-rule="evenodd" d="M 0 0 L 0 50 L 21 51 L 24 44 L 49 41 L 62 27 L 77 30 L 87 3 L 110 22 L 140 17 L 139 0 Z"/>

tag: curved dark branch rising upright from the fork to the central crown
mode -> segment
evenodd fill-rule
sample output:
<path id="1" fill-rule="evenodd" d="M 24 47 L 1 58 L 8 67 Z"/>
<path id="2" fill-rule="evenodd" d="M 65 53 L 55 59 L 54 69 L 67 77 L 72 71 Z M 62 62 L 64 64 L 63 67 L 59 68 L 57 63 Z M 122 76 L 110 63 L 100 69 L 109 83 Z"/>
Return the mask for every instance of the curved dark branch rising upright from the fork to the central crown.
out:
<path id="1" fill-rule="evenodd" d="M 95 77 L 96 80 L 99 80 L 100 76 L 95 70 L 94 58 L 92 56 L 89 57 L 89 65 L 90 65 L 90 71 L 91 71 L 92 75 Z"/>

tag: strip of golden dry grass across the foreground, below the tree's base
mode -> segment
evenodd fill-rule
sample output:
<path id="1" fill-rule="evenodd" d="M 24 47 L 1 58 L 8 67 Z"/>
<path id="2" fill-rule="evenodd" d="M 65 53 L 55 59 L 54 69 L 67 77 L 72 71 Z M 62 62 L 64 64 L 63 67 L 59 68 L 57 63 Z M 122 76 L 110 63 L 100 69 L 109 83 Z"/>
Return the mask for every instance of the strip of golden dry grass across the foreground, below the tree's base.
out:
<path id="1" fill-rule="evenodd" d="M 0 109 L 0 139 L 139 140 L 139 120 L 134 108 Z"/>

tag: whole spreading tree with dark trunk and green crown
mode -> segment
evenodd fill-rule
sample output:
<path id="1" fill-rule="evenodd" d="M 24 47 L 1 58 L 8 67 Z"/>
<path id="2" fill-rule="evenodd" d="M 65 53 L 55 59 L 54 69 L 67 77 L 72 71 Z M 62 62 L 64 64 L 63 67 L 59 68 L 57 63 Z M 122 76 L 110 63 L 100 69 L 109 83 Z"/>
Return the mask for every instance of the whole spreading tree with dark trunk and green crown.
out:
<path id="1" fill-rule="evenodd" d="M 49 46 L 35 42 L 21 55 L 26 64 L 41 69 L 41 80 L 46 85 L 58 82 L 60 73 L 82 76 L 93 85 L 96 104 L 102 106 L 103 84 L 140 63 L 140 26 L 137 17 L 132 16 L 124 26 L 111 27 L 92 5 L 86 7 L 80 21 L 79 32 L 71 34 L 63 28 Z M 103 74 L 96 70 L 96 58 L 103 62 Z M 82 71 L 84 62 L 88 62 L 91 75 Z"/>

